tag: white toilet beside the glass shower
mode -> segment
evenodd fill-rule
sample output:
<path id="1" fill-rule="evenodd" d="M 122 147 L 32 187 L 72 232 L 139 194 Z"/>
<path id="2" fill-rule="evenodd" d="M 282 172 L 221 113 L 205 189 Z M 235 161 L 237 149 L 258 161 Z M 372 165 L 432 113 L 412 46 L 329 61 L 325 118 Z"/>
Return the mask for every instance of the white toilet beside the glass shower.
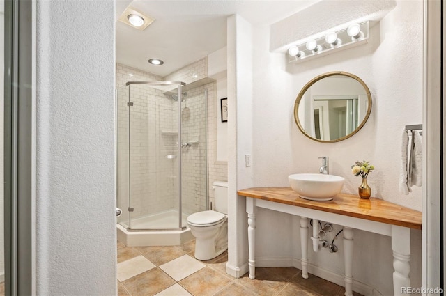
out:
<path id="1" fill-rule="evenodd" d="M 210 260 L 228 249 L 228 183 L 213 182 L 215 210 L 196 212 L 187 217 L 195 237 L 195 258 Z"/>

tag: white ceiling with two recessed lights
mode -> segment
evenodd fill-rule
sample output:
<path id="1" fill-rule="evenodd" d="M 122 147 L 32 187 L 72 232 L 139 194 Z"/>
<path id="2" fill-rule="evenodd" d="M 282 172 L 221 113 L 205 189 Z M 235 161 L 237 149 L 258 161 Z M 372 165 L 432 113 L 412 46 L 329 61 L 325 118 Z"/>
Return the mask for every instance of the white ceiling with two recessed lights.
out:
<path id="1" fill-rule="evenodd" d="M 116 21 L 116 62 L 162 77 L 226 46 L 226 18 L 272 24 L 318 0 L 117 0 L 116 20 L 128 6 L 155 18 L 144 31 Z M 162 59 L 151 65 L 148 59 Z"/>

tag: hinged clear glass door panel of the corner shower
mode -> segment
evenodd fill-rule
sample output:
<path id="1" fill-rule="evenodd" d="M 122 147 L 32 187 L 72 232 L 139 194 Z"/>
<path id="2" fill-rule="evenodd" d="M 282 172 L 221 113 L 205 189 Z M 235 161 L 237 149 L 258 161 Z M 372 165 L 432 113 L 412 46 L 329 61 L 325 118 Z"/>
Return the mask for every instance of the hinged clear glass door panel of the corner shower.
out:
<path id="1" fill-rule="evenodd" d="M 178 85 L 129 85 L 129 227 L 180 228 Z"/>

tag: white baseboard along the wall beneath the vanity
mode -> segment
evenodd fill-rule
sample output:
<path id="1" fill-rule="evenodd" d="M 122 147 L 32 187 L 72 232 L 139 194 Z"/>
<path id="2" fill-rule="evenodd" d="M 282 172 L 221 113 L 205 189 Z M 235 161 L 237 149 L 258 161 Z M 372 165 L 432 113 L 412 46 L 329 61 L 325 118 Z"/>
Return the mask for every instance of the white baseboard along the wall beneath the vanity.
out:
<path id="1" fill-rule="evenodd" d="M 247 265 L 247 264 L 246 264 Z M 243 265 L 245 266 L 245 265 Z M 256 257 L 256 267 L 296 267 L 302 270 L 302 262 L 300 259 L 292 257 L 279 257 L 279 258 L 258 258 Z M 226 272 L 228 272 L 228 266 L 226 265 Z M 325 268 L 308 264 L 308 272 L 315 276 L 336 283 L 339 286 L 345 286 L 344 274 L 337 274 Z M 229 272 L 228 272 L 229 273 Z M 243 274 L 242 274 L 243 275 Z M 368 286 L 365 283 L 357 281 L 353 278 L 353 290 L 364 296 L 376 296 L 380 295 L 379 291 L 374 287 Z"/>

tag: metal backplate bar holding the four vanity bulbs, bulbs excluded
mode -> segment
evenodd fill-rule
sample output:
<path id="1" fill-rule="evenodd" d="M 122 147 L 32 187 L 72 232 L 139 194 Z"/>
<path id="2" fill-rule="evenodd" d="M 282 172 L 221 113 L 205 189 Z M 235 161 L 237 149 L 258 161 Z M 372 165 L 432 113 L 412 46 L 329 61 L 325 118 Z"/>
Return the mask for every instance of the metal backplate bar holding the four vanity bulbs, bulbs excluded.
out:
<path id="1" fill-rule="evenodd" d="M 330 44 L 325 40 L 325 36 L 327 34 L 318 34 L 317 38 L 314 36 L 309 36 L 302 42 L 294 43 L 290 47 L 297 46 L 299 53 L 296 56 L 291 56 L 288 51 L 286 53 L 286 56 L 288 57 L 289 63 L 300 63 L 302 61 L 309 61 L 310 59 L 314 59 L 316 57 L 325 56 L 327 54 L 332 54 L 334 52 L 339 52 L 342 49 L 348 49 L 351 47 L 355 47 L 357 45 L 362 45 L 364 43 L 367 43 L 369 40 L 369 21 L 362 22 L 360 25 L 360 33 L 358 34 L 358 38 L 352 38 L 348 35 L 347 29 L 348 25 L 344 29 L 334 30 L 330 29 L 327 31 L 327 33 L 336 32 L 337 33 L 337 40 L 334 42 L 335 44 Z M 306 47 L 308 40 L 316 40 L 316 44 L 319 47 L 317 51 L 309 50 Z M 294 50 L 294 52 L 296 52 Z"/>

